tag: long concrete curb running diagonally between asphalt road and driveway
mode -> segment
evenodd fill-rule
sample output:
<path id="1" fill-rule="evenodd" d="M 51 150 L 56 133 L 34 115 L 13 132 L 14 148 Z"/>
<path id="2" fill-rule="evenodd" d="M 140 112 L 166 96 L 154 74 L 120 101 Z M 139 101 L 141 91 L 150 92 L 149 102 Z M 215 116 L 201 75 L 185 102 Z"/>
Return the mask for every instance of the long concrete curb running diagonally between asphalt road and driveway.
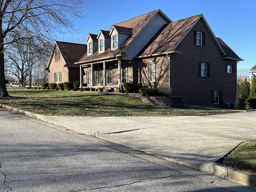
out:
<path id="1" fill-rule="evenodd" d="M 38 120 L 49 122 L 49 121 L 46 121 L 44 119 L 44 116 L 40 115 L 40 114 L 27 112 L 27 111 L 24 111 L 24 110 L 19 110 L 19 109 L 10 107 L 10 106 L 6 106 L 4 104 L 0 104 L 0 107 L 6 108 L 8 110 L 14 110 L 17 113 L 21 113 L 21 114 L 24 114 L 26 116 L 36 118 Z M 54 122 L 49 122 L 49 123 L 55 124 Z M 59 125 L 59 124 L 55 124 L 55 125 L 63 126 L 63 125 Z M 68 128 L 68 127 L 66 127 L 66 128 Z M 74 130 L 72 128 L 68 128 L 68 129 Z M 81 132 L 79 130 L 75 130 L 75 131 Z M 91 135 L 91 134 L 88 134 L 88 133 L 84 133 L 84 134 Z M 215 162 L 205 162 L 200 167 L 196 167 L 196 166 L 193 166 L 193 165 L 190 165 L 190 164 L 184 164 L 184 162 L 179 162 L 179 161 L 176 161 L 176 160 L 172 160 L 170 158 L 162 157 L 162 156 L 159 156 L 157 154 L 153 154 L 151 152 L 143 151 L 143 150 L 140 150 L 138 148 L 134 148 L 132 146 L 124 145 L 122 143 L 119 143 L 119 142 L 116 142 L 116 141 L 113 141 L 113 140 L 108 140 L 106 138 L 103 138 L 103 137 L 100 137 L 100 136 L 97 136 L 97 135 L 91 135 L 91 136 L 94 136 L 96 138 L 100 138 L 102 140 L 107 140 L 109 142 L 125 146 L 127 148 L 131 148 L 132 150 L 137 150 L 137 151 L 140 151 L 140 152 L 144 152 L 146 154 L 156 156 L 156 157 L 164 159 L 164 160 L 168 160 L 172 163 L 180 164 L 182 166 L 193 168 L 195 170 L 200 170 L 201 172 L 204 172 L 204 173 L 207 173 L 207 174 L 210 174 L 210 175 L 213 175 L 213 176 L 218 176 L 220 178 L 224 178 L 226 180 L 230 180 L 232 182 L 236 182 L 236 183 L 242 184 L 244 186 L 256 188 L 256 175 L 254 175 L 254 174 L 250 174 L 250 173 L 247 173 L 247 172 L 242 172 L 240 170 L 234 170 L 230 167 L 227 167 L 227 166 L 215 163 Z"/>

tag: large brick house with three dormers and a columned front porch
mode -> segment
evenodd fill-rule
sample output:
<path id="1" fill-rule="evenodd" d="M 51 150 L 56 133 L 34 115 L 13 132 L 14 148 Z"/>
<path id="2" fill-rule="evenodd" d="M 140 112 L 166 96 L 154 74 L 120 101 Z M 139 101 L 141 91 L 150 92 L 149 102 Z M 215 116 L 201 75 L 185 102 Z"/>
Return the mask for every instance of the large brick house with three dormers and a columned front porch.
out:
<path id="1" fill-rule="evenodd" d="M 88 34 L 80 85 L 121 91 L 125 82 L 172 89 L 184 104 L 219 106 L 236 99 L 242 61 L 216 38 L 202 14 L 172 22 L 155 10 Z"/>

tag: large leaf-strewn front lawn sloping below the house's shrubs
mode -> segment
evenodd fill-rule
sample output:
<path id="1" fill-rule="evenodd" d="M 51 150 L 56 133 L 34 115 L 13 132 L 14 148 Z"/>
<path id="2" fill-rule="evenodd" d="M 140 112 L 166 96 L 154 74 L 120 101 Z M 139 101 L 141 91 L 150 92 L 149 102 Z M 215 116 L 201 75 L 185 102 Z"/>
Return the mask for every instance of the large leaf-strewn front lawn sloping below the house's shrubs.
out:
<path id="1" fill-rule="evenodd" d="M 47 116 L 188 116 L 232 113 L 232 110 L 162 108 L 138 97 L 102 92 L 8 88 L 0 103 Z"/>

